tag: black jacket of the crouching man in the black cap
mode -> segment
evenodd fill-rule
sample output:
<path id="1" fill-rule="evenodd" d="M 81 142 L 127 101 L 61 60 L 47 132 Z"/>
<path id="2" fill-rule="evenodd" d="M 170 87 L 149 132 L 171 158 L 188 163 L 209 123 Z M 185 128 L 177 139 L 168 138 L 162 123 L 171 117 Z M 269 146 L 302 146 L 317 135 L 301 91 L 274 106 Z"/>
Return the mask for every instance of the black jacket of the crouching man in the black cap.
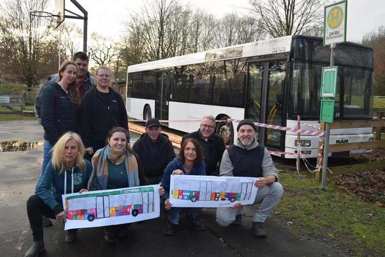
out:
<path id="1" fill-rule="evenodd" d="M 174 148 L 172 147 L 171 141 L 168 139 L 168 136 L 165 134 L 159 135 L 158 145 L 156 147 L 156 163 L 155 168 L 151 170 L 151 157 L 150 151 L 148 150 L 148 145 L 146 142 L 146 133 L 142 134 L 140 138 L 135 141 L 132 148 L 140 158 L 142 162 L 144 175 L 147 177 L 160 176 L 163 175 L 164 169 L 167 164 L 174 160 L 176 157 Z M 153 163 L 152 163 L 153 165 Z"/>

